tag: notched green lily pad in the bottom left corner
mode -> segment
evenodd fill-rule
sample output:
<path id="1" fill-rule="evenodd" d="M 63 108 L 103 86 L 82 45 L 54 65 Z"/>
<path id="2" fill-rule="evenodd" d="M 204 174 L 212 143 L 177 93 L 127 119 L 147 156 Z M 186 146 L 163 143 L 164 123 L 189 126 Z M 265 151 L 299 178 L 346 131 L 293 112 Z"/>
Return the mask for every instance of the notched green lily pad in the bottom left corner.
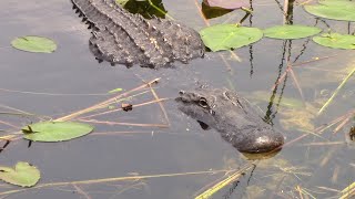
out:
<path id="1" fill-rule="evenodd" d="M 0 179 L 21 187 L 32 187 L 41 178 L 40 171 L 32 165 L 19 161 L 14 169 L 0 166 Z"/>

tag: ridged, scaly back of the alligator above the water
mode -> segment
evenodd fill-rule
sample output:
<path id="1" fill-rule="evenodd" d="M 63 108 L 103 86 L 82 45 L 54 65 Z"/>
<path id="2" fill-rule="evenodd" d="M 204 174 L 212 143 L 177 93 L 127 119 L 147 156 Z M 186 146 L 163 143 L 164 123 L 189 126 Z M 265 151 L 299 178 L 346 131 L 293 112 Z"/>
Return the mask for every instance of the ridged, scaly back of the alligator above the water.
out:
<path id="1" fill-rule="evenodd" d="M 204 55 L 200 34 L 176 21 L 146 20 L 125 11 L 115 0 L 71 2 L 88 29 L 92 29 L 89 49 L 99 62 L 158 69 Z"/>

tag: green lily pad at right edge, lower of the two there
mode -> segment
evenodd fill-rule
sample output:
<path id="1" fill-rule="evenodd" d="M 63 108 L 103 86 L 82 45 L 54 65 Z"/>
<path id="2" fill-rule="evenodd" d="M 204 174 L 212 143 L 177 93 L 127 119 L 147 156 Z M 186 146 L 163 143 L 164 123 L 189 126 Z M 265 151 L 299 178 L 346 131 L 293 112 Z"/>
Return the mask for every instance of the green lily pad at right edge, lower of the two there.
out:
<path id="1" fill-rule="evenodd" d="M 333 49 L 355 49 L 355 35 L 351 34 L 326 33 L 314 36 L 313 41 Z"/>

